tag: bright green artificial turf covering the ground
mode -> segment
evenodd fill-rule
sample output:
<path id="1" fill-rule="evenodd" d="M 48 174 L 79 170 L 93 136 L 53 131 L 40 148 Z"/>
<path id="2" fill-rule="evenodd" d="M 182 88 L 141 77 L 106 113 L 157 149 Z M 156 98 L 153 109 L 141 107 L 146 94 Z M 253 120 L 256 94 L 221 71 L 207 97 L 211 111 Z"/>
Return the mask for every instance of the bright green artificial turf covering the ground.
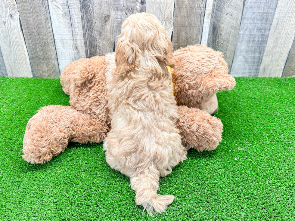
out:
<path id="1" fill-rule="evenodd" d="M 21 158 L 28 120 L 69 105 L 59 79 L 0 78 L 0 220 L 294 220 L 295 78 L 236 78 L 217 94 L 224 132 L 213 152 L 160 180 L 176 197 L 154 217 L 129 178 L 105 162 L 101 143 L 70 143 L 43 165 Z"/>

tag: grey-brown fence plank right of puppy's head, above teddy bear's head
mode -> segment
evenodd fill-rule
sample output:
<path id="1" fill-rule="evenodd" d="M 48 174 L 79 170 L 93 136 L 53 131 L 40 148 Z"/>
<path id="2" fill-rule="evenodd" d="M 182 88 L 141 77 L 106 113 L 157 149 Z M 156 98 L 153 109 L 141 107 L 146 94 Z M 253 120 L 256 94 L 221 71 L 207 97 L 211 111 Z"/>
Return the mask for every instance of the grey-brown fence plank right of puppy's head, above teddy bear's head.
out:
<path id="1" fill-rule="evenodd" d="M 201 43 L 206 0 L 175 0 L 173 49 Z"/>

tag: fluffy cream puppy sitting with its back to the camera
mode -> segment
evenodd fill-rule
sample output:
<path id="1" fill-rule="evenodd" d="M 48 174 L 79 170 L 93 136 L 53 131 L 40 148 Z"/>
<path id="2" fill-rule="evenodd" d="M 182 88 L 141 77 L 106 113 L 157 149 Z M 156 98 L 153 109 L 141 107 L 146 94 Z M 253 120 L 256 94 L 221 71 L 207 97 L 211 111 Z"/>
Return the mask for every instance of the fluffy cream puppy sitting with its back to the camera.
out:
<path id="1" fill-rule="evenodd" d="M 111 130 L 104 140 L 106 161 L 130 177 L 135 201 L 149 214 L 163 212 L 173 195 L 159 195 L 159 177 L 186 159 L 171 75 L 172 43 L 151 14 L 130 15 L 116 51 L 106 56 L 106 91 Z"/>

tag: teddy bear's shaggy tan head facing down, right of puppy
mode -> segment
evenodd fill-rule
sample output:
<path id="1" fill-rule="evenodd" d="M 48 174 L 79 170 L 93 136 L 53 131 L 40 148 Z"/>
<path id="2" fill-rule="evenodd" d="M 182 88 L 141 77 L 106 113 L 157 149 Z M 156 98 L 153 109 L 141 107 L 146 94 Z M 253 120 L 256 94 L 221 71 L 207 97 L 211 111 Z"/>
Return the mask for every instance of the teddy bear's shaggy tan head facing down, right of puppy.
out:
<path id="1" fill-rule="evenodd" d="M 217 112 L 218 91 L 236 84 L 228 75 L 222 54 L 203 45 L 180 48 L 173 53 L 177 65 L 171 70 L 178 105 L 196 107 L 210 114 Z"/>

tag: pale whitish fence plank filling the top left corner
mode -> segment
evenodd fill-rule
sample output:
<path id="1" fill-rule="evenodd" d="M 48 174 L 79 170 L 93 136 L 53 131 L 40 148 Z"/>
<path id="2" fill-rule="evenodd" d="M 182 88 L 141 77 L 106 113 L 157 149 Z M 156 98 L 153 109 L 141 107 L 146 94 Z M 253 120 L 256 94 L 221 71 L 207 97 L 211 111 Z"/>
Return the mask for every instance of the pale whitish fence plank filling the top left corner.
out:
<path id="1" fill-rule="evenodd" d="M 31 78 L 33 76 L 31 64 L 20 28 L 20 17 L 16 2 L 14 0 L 2 0 L 0 2 L 0 15 L 0 47 L 5 63 L 4 67 L 6 67 L 6 75 Z"/>

